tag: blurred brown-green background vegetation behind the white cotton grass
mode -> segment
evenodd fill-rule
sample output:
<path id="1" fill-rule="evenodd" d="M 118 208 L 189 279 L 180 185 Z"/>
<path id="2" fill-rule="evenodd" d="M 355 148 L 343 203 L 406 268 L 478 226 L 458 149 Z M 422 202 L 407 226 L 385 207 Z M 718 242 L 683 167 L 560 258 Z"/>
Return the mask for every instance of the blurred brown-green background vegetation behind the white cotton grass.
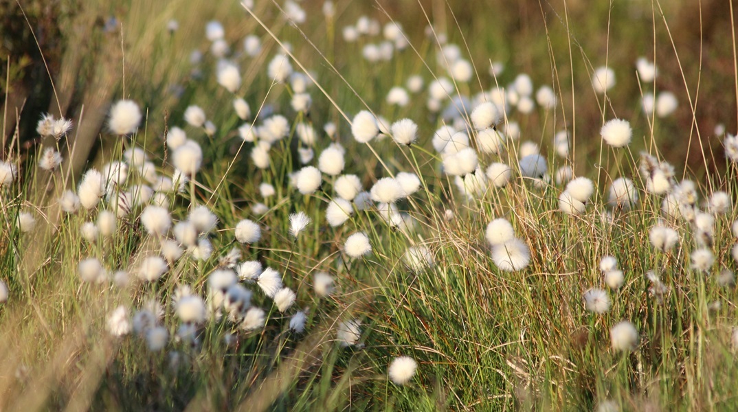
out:
<path id="1" fill-rule="evenodd" d="M 305 1 L 302 5 L 307 13 L 321 13 L 323 4 Z M 392 18 L 422 49 L 430 21 L 449 41 L 468 47 L 464 54 L 472 57 L 480 73 L 472 88 L 488 87 L 494 81 L 487 75 L 490 61 L 500 61 L 508 68 L 497 79 L 501 85 L 517 72 L 530 74 L 537 84 L 558 83 L 554 89 L 560 91 L 562 107 L 568 109 L 562 112 L 563 122 L 576 122 L 581 136 L 596 133 L 601 125 L 601 108 L 593 104 L 596 97 L 590 90 L 593 67 L 607 62 L 615 68 L 618 87 L 610 94 L 610 105 L 618 109 L 619 117 L 632 119 L 638 116 L 638 102 L 633 100 L 645 92 L 639 89 L 634 62 L 645 56 L 659 67 L 657 88 L 672 91 L 680 102 L 673 122 L 662 122 L 656 131 L 662 150 L 673 154 L 667 158 L 688 156 L 690 166 L 704 168 L 699 147 L 692 144 L 688 148 L 683 144 L 686 139 L 700 130 L 703 144 L 714 148 L 719 144 L 719 139 L 711 137 L 716 125 L 725 125 L 728 132 L 736 130 L 728 1 L 435 0 L 423 5 L 424 10 L 410 0 L 337 1 L 336 29 L 339 32 L 353 24 L 360 15 L 381 21 Z M 272 1 L 257 1 L 255 11 L 267 25 L 283 24 Z M 80 170 L 93 156 L 104 114 L 111 99 L 124 94 L 124 85 L 125 97 L 142 99 L 149 109 L 149 126 L 160 130 L 166 114 L 186 105 L 187 93 L 196 93 L 187 88 L 190 52 L 207 52 L 204 24 L 212 19 L 228 28 L 227 40 L 234 45 L 248 34 L 262 37 L 265 46 L 271 43 L 236 0 L 0 1 L 0 93 L 4 96 L 0 150 L 7 150 L 16 135 L 21 152 L 32 152 L 38 143 L 34 130 L 40 114 L 63 114 L 80 125 L 72 137 L 77 142 L 73 163 Z M 179 29 L 170 30 L 170 21 L 176 21 Z M 340 35 L 327 38 L 325 27 L 302 29 L 319 48 L 325 48 L 337 69 L 344 69 L 355 57 Z M 294 30 L 285 30 L 283 35 L 286 41 L 300 40 Z M 300 47 L 296 55 L 320 63 L 311 47 Z M 402 64 L 424 69 L 411 51 L 402 60 Z M 390 72 L 374 71 L 372 75 Z M 373 98 L 378 102 L 382 96 L 362 98 L 372 105 Z M 696 106 L 694 117 L 690 100 Z M 0 156 L 5 155 L 0 152 Z M 714 163 L 720 169 L 723 156 L 717 156 Z"/>

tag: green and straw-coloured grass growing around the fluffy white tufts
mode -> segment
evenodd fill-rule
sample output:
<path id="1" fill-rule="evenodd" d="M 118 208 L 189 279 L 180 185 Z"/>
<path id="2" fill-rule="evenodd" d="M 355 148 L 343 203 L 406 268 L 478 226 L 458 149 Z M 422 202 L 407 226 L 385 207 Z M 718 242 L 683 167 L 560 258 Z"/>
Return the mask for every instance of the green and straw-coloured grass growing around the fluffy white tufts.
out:
<path id="1" fill-rule="evenodd" d="M 106 84 L 116 98 L 139 103 L 144 122 L 137 133 L 125 137 L 100 128 L 100 153 L 87 167 L 104 170 L 108 162 L 125 161 L 128 179 L 108 186 L 111 193 L 94 208 L 68 214 L 60 211 L 58 198 L 63 190 L 76 189 L 80 180 L 67 173 L 66 162 L 53 172 L 36 164 L 45 147 L 60 150 L 65 158 L 75 156 L 66 146 L 73 142 L 70 136 L 58 142 L 45 140 L 25 161 L 15 152 L 4 159 L 18 164 L 21 172 L 13 184 L 0 186 L 0 225 L 7 234 L 0 239 L 0 280 L 10 290 L 9 301 L 0 306 L 0 324 L 7 328 L 0 339 L 0 349 L 7 349 L 0 352 L 0 366 L 19 372 L 17 378 L 0 380 L 0 394 L 10 394 L 0 397 L 0 408 L 596 410 L 610 400 L 622 410 L 734 409 L 737 292 L 720 276 L 736 266 L 731 257 L 735 209 L 711 214 L 714 233 L 708 242 L 700 240 L 694 222 L 662 212 L 664 196 L 649 193 L 648 175 L 639 171 L 644 160 L 638 153 L 643 150 L 679 169 L 672 190 L 677 190 L 684 171 L 686 178 L 697 181 L 700 199 L 722 190 L 735 201 L 735 164 L 707 166 L 714 163 L 712 158 L 723 158 L 722 147 L 715 155 L 709 151 L 722 141 L 690 141 L 689 150 L 700 150 L 699 161 L 684 160 L 689 150 L 683 147 L 656 150 L 673 142 L 672 136 L 687 142 L 684 122 L 701 125 L 699 111 L 691 113 L 687 94 L 673 81 L 682 69 L 692 72 L 694 63 L 681 60 L 683 66 L 670 65 L 673 55 L 664 57 L 663 64 L 657 59 L 661 74 L 655 85 L 639 83 L 632 74 L 635 57 L 654 49 L 650 41 L 663 49 L 670 44 L 658 16 L 652 20 L 651 4 L 596 3 L 582 8 L 573 1 L 572 9 L 565 10 L 528 3 L 523 1 L 516 9 L 500 2 L 497 24 L 475 18 L 483 9 L 480 5 L 441 1 L 422 10 L 423 4 L 407 4 L 410 11 L 382 2 L 368 7 L 337 1 L 335 18 L 325 18 L 320 7 L 305 2 L 308 21 L 297 27 L 284 20 L 275 4 L 266 2 L 258 4 L 253 15 L 234 4 L 198 3 L 193 10 L 180 10 L 182 1 L 156 6 L 130 1 L 114 10 L 123 34 L 117 32 L 118 26 L 96 30 L 86 47 L 104 49 L 106 41 L 120 35 L 120 65 L 100 67 L 120 69 L 120 78 L 108 73 L 105 78 L 115 80 Z M 49 13 L 69 15 L 70 4 L 29 3 L 24 10 L 31 21 L 49 23 L 53 21 Z M 0 13 L 1 19 L 9 24 L 0 25 L 0 34 L 27 27 L 18 26 L 17 7 L 0 5 L 0 12 L 3 7 L 10 11 Z M 86 7 L 100 14 L 109 8 Z M 149 7 L 160 8 L 149 13 Z M 424 35 L 424 15 L 431 10 L 438 32 Z M 395 50 L 390 61 L 362 60 L 362 48 L 382 39 L 362 36 L 347 43 L 341 35 L 343 27 L 354 24 L 362 13 L 382 23 L 399 21 L 411 46 Z M 664 10 L 663 18 L 678 13 L 680 7 L 675 5 Z M 167 30 L 170 18 L 179 20 L 178 31 Z M 244 81 L 235 94 L 218 85 L 218 59 L 210 55 L 210 41 L 201 37 L 211 18 L 223 22 L 225 41 L 233 52 L 230 58 L 241 69 Z M 50 38 L 63 42 L 63 29 L 49 32 L 35 24 L 37 35 L 52 33 Z M 548 84 L 556 91 L 559 102 L 554 110 L 537 107 L 527 116 L 508 111 L 506 127 L 500 125 L 500 130 L 517 122 L 520 139 L 506 139 L 500 153 L 479 153 L 480 167 L 492 162 L 510 165 L 512 178 L 504 187 L 485 179 L 474 192 L 471 174 L 458 179 L 445 175 L 441 167 L 445 155 L 433 150 L 435 130 L 454 122 L 453 116 L 427 107 L 427 86 L 438 77 L 449 77 L 444 60 L 438 58 L 436 36 L 441 27 L 475 67 L 475 77 L 455 83 L 450 98 L 471 99 L 480 91 L 488 92 L 489 98 L 496 85 L 510 89 L 519 72 L 530 74 L 536 87 Z M 263 42 L 258 55 L 242 52 L 248 34 Z M 24 41 L 29 41 L 27 35 L 20 38 L 21 46 L 13 43 L 11 56 L 33 49 Z M 291 43 L 294 69 L 301 71 L 302 65 L 314 77 L 316 84 L 307 88 L 313 101 L 308 112 L 291 108 L 297 93 L 294 85 L 275 83 L 266 74 L 269 61 L 280 52 L 278 42 Z M 65 47 L 69 45 L 59 49 Z M 725 58 L 718 52 L 723 48 L 710 50 Z M 188 63 L 192 50 L 203 55 L 200 63 Z M 36 62 L 31 52 L 21 55 Z M 81 73 L 93 76 L 100 69 L 99 56 L 91 53 L 82 62 Z M 489 66 L 497 60 L 506 70 L 491 76 Z M 618 83 L 604 97 L 593 92 L 591 74 L 606 61 L 615 69 Z M 29 80 L 24 76 L 31 63 L 11 64 L 11 83 Z M 425 91 L 411 94 L 407 106 L 390 105 L 387 91 L 404 85 L 411 74 L 424 78 Z M 662 82 L 661 76 L 666 80 Z M 686 83 L 691 82 L 689 77 Z M 73 83 L 87 82 L 82 78 Z M 663 119 L 643 114 L 642 94 L 658 93 L 662 87 L 679 95 L 680 108 Z M 249 103 L 252 116 L 246 121 L 235 114 L 234 97 Z M 204 109 L 215 133 L 186 125 L 183 116 L 190 105 Z M 466 111 L 472 108 L 469 105 Z M 384 136 L 370 144 L 356 143 L 350 121 L 365 109 L 390 124 L 405 117 L 415 120 L 418 142 L 404 146 Z M 108 107 L 89 110 L 104 112 Z M 272 114 L 286 116 L 289 133 L 272 144 L 269 166 L 259 168 L 249 156 L 256 144 L 241 139 L 238 128 L 257 130 Z M 721 122 L 734 124 L 732 112 L 723 109 L 722 115 Z M 468 113 L 456 117 L 456 122 L 468 122 Z M 634 130 L 628 147 L 613 149 L 599 138 L 604 121 L 615 117 L 628 119 Z M 334 136 L 322 131 L 328 122 L 337 127 Z M 397 172 L 418 175 L 421 188 L 396 205 L 404 219 L 388 220 L 376 207 L 357 206 L 346 223 L 330 226 L 325 207 L 336 195 L 336 178 L 323 175 L 320 190 L 311 195 L 301 195 L 292 185 L 292 173 L 302 167 L 299 150 L 309 146 L 298 136 L 300 123 L 317 132 L 315 157 L 309 164 L 317 165 L 320 152 L 339 143 L 346 150 L 343 173 L 358 175 L 366 190 Z M 159 178 L 176 176 L 176 149 L 166 144 L 175 126 L 199 144 L 203 156 L 192 181 L 181 190 L 167 190 Z M 75 120 L 75 128 L 79 127 Z M 710 134 L 700 127 L 700 136 Z M 552 144 L 560 130 L 572 137 L 573 150 L 563 158 Z M 477 148 L 476 131 L 467 131 Z M 525 141 L 536 143 L 548 159 L 549 181 L 520 176 L 518 159 Z M 156 178 L 126 158 L 126 150 L 134 148 L 145 150 Z M 559 167 L 571 167 L 574 175 L 593 181 L 595 193 L 584 213 L 559 210 L 559 195 L 565 190 L 565 183 L 556 179 Z M 632 207 L 608 202 L 610 185 L 620 177 L 632 178 L 638 190 L 639 200 Z M 274 186 L 275 195 L 262 198 L 263 183 Z M 136 201 L 139 185 L 158 190 L 161 197 L 150 202 L 168 203 L 174 222 L 187 220 L 196 206 L 207 206 L 218 217 L 217 228 L 201 237 L 211 243 L 212 254 L 198 259 L 194 247 L 183 245 L 182 258 L 169 262 L 165 276 L 155 282 L 139 281 L 141 260 L 160 254 L 162 240 L 148 234 L 140 217 L 146 202 Z M 463 187 L 472 195 L 467 196 Z M 119 215 L 116 233 L 84 240 L 83 226 L 94 223 L 100 210 L 120 212 L 110 201 L 119 192 L 130 196 L 130 207 Z M 701 201 L 692 206 L 708 210 Z M 35 217 L 36 227 L 28 233 L 21 232 L 17 223 L 21 212 Z M 311 217 L 297 238 L 289 234 L 289 216 L 295 212 Z M 531 251 L 531 262 L 522 270 L 500 270 L 492 258 L 485 228 L 498 217 L 511 223 L 515 236 Z M 261 240 L 250 245 L 234 240 L 233 228 L 242 219 L 258 223 Z M 649 242 L 649 231 L 658 223 L 680 234 L 670 251 L 658 251 Z M 372 251 L 352 259 L 343 245 L 356 231 L 368 234 Z M 173 238 L 171 231 L 167 237 Z M 692 251 L 701 247 L 716 260 L 706 273 L 694 269 L 691 260 Z M 410 248 L 427 248 L 432 265 L 414 265 Z M 240 257 L 233 257 L 234 249 Z M 607 255 L 615 256 L 624 273 L 624 283 L 612 289 L 599 269 L 600 259 Z M 77 265 L 88 257 L 100 259 L 110 275 L 100 284 L 80 282 Z M 242 283 L 252 292 L 252 306 L 264 310 L 265 326 L 245 330 L 222 305 L 215 305 L 209 307 L 207 321 L 197 325 L 196 339 L 188 341 L 181 329 L 188 325 L 180 322 L 174 303 L 180 288 L 191 287 L 210 305 L 213 290 L 208 279 L 213 272 L 232 267 L 234 261 L 250 260 L 280 273 L 285 286 L 297 294 L 294 307 L 280 313 L 272 298 L 247 279 Z M 123 287 L 112 282 L 117 270 L 128 271 L 131 282 Z M 650 270 L 660 282 L 646 276 Z M 318 272 L 334 277 L 336 290 L 331 296 L 317 296 L 313 279 Z M 593 287 L 607 290 L 611 305 L 606 313 L 586 309 L 583 294 Z M 111 336 L 108 316 L 113 310 L 123 305 L 132 318 L 142 308 L 156 307 L 152 301 L 161 310 L 158 324 L 170 336 L 165 349 L 148 349 L 147 332 Z M 298 310 L 307 317 L 303 333 L 290 327 Z M 350 320 L 361 322 L 361 332 L 354 344 L 342 345 L 337 330 Z M 632 352 L 618 352 L 610 342 L 610 329 L 623 320 L 638 331 Z M 418 369 L 410 382 L 396 385 L 387 366 L 402 355 L 413 357 Z"/>

